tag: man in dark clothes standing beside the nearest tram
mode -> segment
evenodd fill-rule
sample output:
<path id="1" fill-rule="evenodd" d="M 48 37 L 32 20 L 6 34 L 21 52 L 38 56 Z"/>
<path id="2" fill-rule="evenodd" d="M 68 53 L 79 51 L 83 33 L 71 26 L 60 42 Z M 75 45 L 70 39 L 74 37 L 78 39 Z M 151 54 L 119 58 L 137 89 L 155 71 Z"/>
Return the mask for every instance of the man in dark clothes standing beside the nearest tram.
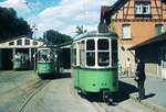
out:
<path id="1" fill-rule="evenodd" d="M 136 77 L 135 81 L 137 82 L 138 87 L 138 101 L 143 100 L 145 98 L 145 64 L 142 59 L 137 59 L 137 68 L 136 68 Z"/>

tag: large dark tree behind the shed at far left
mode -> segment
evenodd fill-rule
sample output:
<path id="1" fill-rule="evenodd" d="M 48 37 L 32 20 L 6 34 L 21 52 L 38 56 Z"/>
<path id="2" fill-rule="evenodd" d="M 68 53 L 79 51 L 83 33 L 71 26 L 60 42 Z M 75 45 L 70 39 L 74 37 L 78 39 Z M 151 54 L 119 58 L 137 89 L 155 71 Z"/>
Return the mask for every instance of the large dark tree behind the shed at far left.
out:
<path id="1" fill-rule="evenodd" d="M 11 8 L 0 8 L 0 41 L 20 35 L 32 35 L 27 21 L 17 16 Z"/>

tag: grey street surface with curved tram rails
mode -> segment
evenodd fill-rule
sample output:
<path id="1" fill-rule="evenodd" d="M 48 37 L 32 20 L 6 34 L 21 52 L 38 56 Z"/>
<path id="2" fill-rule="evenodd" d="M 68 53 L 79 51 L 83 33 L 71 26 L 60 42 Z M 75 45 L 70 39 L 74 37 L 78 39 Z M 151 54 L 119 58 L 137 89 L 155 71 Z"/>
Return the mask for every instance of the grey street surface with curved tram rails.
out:
<path id="1" fill-rule="evenodd" d="M 25 71 L 24 75 L 30 72 L 33 74 Z M 14 74 L 19 75 L 19 71 L 12 71 L 12 75 L 17 76 Z M 0 79 L 1 77 L 4 79 L 4 75 L 0 74 Z M 12 77 L 12 80 L 18 77 Z M 100 101 L 97 97 L 81 97 L 73 88 L 70 74 L 63 74 L 62 77 L 52 80 L 41 80 L 37 77 L 21 79 L 24 83 L 20 81 L 20 85 L 18 82 L 13 88 L 9 85 L 10 88 L 0 93 L 0 112 L 153 112 L 124 98 L 116 97 L 117 104 L 110 105 Z M 6 81 L 0 81 L 0 85 L 7 86 L 1 86 L 1 89 L 7 88 L 10 80 L 11 75 L 7 75 Z"/>

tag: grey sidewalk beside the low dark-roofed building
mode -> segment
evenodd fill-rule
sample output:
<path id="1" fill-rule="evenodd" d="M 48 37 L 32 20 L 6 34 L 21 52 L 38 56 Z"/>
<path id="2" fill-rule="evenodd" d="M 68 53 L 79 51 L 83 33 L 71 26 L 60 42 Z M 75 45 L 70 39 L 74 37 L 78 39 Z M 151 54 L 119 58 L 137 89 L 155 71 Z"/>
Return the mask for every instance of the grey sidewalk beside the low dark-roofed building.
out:
<path id="1" fill-rule="evenodd" d="M 133 78 L 120 78 L 120 80 L 137 87 Z M 166 80 L 147 76 L 145 80 L 145 96 L 146 99 L 141 101 L 142 104 L 156 112 L 166 112 Z M 129 94 L 129 98 L 134 101 L 137 101 L 136 97 L 137 92 Z"/>

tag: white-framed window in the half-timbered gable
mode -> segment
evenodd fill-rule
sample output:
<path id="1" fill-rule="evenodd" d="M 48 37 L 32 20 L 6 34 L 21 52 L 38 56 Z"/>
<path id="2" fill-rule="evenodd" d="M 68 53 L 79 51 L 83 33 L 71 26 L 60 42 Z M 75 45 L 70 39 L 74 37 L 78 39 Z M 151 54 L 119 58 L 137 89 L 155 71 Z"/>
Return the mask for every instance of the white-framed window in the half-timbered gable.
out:
<path id="1" fill-rule="evenodd" d="M 135 14 L 151 14 L 151 2 L 137 2 L 135 3 Z"/>

